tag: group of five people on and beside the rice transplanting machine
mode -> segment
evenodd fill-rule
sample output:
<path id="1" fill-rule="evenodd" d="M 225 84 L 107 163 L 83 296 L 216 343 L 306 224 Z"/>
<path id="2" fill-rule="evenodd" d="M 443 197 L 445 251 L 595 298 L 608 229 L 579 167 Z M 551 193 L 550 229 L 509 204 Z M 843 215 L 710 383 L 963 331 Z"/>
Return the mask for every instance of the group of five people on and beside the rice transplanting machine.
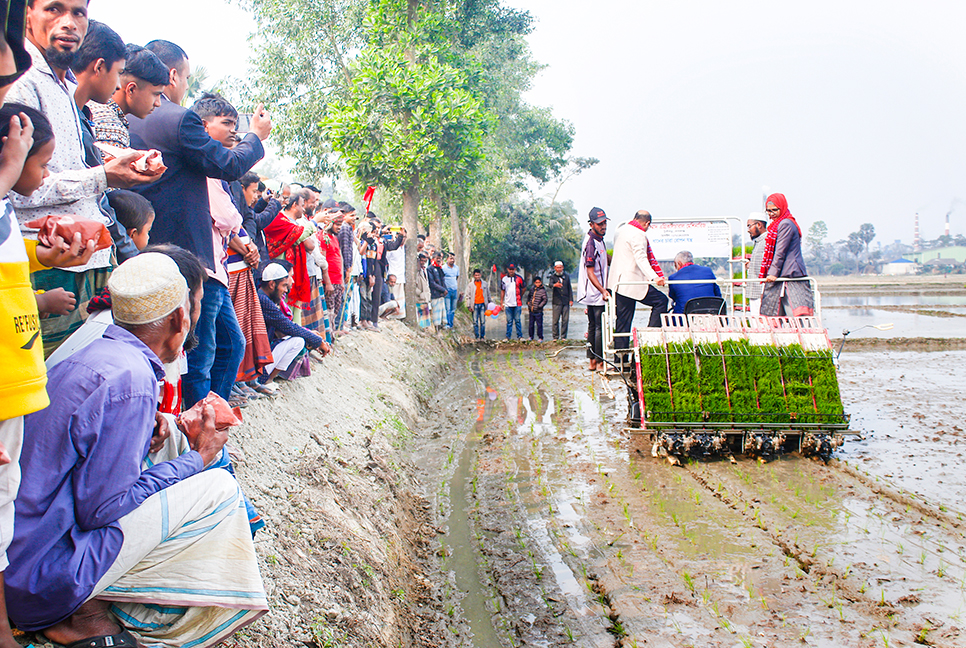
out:
<path id="1" fill-rule="evenodd" d="M 746 261 L 752 279 L 743 286 L 747 312 L 763 317 L 811 315 L 811 285 L 802 281 L 807 277 L 802 230 L 783 194 L 768 196 L 765 213 L 767 221 L 754 215 L 747 222 L 754 244 Z M 591 371 L 604 368 L 601 316 L 610 299 L 614 300 L 616 349 L 631 346 L 629 334 L 638 303 L 650 308 L 649 327 L 661 326 L 662 315 L 669 310 L 677 314 L 725 312 L 714 271 L 695 264 L 688 250 L 674 257 L 675 271 L 665 277 L 647 237 L 651 227 L 649 212 L 638 211 L 618 229 L 612 256 L 608 256 L 604 243 L 608 220 L 603 209 L 592 208 L 588 217 L 590 228 L 581 245 L 576 301 L 587 309 L 587 357 Z M 660 290 L 661 286 L 667 287 L 666 293 Z M 554 318 L 556 326 L 556 314 Z M 508 315 L 507 337 L 509 322 Z"/>

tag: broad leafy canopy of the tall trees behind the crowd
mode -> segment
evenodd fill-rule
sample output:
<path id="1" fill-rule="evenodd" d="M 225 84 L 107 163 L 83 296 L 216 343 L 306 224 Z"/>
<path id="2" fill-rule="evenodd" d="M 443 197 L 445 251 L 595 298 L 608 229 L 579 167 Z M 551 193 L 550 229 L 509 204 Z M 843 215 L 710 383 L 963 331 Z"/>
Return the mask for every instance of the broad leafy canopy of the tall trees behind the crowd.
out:
<path id="1" fill-rule="evenodd" d="M 500 204 L 534 185 L 559 191 L 596 162 L 569 157 L 573 127 L 523 99 L 541 69 L 526 11 L 500 0 L 241 1 L 258 22 L 258 96 L 298 173 L 323 182 L 345 170 L 359 188 L 389 189 L 380 202 L 401 206 L 411 234 L 417 214 L 447 234 L 464 268 L 478 237 L 502 231 Z M 408 248 L 407 259 L 415 269 Z"/>

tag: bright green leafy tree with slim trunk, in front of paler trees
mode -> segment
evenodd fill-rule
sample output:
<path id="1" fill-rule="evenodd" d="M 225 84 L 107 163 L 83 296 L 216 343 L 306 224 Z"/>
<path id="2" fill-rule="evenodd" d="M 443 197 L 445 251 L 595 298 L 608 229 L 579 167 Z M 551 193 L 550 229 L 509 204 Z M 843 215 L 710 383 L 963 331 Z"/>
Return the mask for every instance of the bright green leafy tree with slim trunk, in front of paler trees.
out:
<path id="1" fill-rule="evenodd" d="M 420 188 L 472 177 L 483 158 L 490 116 L 453 65 L 452 22 L 435 3 L 376 0 L 367 13 L 368 47 L 353 62 L 344 96 L 323 121 L 333 150 L 356 183 L 402 194 L 406 300 L 416 303 Z M 415 321 L 415 311 L 409 312 Z"/>

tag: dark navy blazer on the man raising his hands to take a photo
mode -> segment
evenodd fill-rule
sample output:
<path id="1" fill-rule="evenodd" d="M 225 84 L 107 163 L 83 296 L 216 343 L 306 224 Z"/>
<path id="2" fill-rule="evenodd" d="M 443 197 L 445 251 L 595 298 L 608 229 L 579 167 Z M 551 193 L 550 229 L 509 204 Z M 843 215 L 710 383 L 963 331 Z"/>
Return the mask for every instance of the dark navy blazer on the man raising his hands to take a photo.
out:
<path id="1" fill-rule="evenodd" d="M 164 97 L 147 119 L 131 115 L 129 122 L 131 146 L 161 151 L 168 167 L 157 182 L 134 189 L 154 205 L 152 241 L 180 245 L 213 270 L 207 179 L 240 178 L 265 155 L 261 141 L 249 133 L 226 149 L 208 136 L 201 117 Z"/>

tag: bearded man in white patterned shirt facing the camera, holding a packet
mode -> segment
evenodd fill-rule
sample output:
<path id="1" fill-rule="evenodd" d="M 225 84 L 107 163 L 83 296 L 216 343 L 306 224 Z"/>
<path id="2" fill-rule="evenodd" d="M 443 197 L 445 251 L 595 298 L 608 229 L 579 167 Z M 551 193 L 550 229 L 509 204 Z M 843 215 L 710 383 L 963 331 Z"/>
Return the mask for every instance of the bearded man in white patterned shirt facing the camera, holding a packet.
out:
<path id="1" fill-rule="evenodd" d="M 87 35 L 87 26 L 86 0 L 34 0 L 27 6 L 25 45 L 33 64 L 10 89 L 6 101 L 44 113 L 54 131 L 55 147 L 47 165 L 51 175 L 40 189 L 29 197 L 16 192 L 10 194 L 21 225 L 47 215 L 66 214 L 112 225 L 98 207 L 98 199 L 107 187 L 125 188 L 156 179 L 131 168 L 131 162 L 139 157 L 134 152 L 103 166 L 88 168 L 85 163 L 82 127 L 74 106 L 77 84 L 70 64 Z M 64 288 L 77 298 L 77 308 L 69 314 L 42 320 L 47 355 L 80 328 L 84 308 L 107 283 L 110 267 L 111 250 L 103 249 L 95 252 L 84 265 L 34 274 L 34 288 L 48 291 Z"/>

